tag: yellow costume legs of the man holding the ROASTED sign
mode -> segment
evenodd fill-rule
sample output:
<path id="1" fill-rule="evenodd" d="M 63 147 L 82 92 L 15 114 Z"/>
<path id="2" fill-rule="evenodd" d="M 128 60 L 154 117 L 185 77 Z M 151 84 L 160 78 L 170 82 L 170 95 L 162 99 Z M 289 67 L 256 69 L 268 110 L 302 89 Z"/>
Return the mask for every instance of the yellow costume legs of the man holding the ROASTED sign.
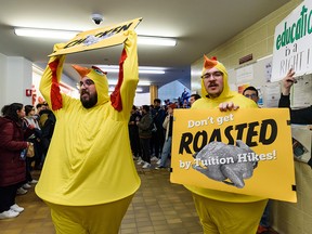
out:
<path id="1" fill-rule="evenodd" d="M 253 203 L 229 203 L 193 193 L 205 234 L 255 234 L 268 199 Z"/>

